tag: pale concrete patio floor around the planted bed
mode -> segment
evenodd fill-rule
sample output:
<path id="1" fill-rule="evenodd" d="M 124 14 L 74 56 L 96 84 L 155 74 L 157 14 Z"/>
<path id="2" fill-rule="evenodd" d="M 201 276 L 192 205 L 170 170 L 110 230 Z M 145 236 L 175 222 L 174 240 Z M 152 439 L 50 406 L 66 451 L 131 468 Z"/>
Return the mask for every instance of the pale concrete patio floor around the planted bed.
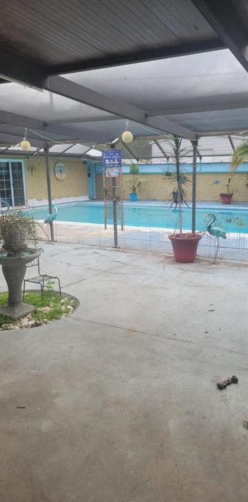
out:
<path id="1" fill-rule="evenodd" d="M 247 267 L 44 247 L 80 305 L 0 332 L 0 502 L 247 502 Z"/>

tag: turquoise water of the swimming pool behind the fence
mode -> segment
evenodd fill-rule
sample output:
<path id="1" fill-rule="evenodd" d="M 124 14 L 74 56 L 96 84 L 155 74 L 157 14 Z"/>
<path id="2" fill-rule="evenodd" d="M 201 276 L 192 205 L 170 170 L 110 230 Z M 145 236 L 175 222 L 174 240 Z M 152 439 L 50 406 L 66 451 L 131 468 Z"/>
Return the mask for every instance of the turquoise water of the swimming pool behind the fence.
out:
<path id="1" fill-rule="evenodd" d="M 62 222 L 85 222 L 104 223 L 103 204 L 92 204 L 91 202 L 78 202 L 75 204 L 58 204 L 58 215 L 56 221 Z M 47 206 L 34 208 L 33 216 L 39 220 L 44 220 L 47 216 Z M 196 229 L 203 231 L 206 229 L 205 215 L 214 213 L 217 218 L 215 225 L 221 226 L 226 232 L 238 232 L 248 234 L 248 211 L 226 209 L 206 209 L 196 210 Z M 192 211 L 190 208 L 183 208 L 183 228 L 191 228 Z M 113 211 L 111 204 L 107 205 L 107 223 L 113 223 Z M 118 207 L 118 224 L 121 223 L 121 209 Z M 178 227 L 178 210 L 169 209 L 168 206 L 124 206 L 124 224 L 133 227 L 158 227 L 175 229 Z"/>

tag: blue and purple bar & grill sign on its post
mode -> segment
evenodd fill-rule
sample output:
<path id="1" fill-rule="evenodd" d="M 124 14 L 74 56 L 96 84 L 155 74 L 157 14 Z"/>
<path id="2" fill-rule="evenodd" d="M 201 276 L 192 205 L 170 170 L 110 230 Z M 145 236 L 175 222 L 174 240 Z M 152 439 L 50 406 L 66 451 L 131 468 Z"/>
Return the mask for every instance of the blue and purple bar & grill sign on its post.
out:
<path id="1" fill-rule="evenodd" d="M 111 145 L 111 150 L 104 150 L 102 152 L 102 167 L 106 178 L 112 178 L 114 248 L 118 248 L 116 178 L 120 176 L 121 150 L 114 149 L 114 145 Z"/>

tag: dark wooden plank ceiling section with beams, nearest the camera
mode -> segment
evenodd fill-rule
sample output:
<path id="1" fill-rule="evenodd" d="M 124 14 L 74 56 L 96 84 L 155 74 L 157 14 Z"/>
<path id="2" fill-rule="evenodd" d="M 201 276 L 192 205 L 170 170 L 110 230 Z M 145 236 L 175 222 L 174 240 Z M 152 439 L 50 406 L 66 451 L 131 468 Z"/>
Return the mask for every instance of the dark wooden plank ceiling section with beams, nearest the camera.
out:
<path id="1" fill-rule="evenodd" d="M 2 68 L 30 84 L 220 47 L 247 68 L 245 0 L 119 0 L 118 7 L 114 0 L 3 0 L 1 17 Z"/>

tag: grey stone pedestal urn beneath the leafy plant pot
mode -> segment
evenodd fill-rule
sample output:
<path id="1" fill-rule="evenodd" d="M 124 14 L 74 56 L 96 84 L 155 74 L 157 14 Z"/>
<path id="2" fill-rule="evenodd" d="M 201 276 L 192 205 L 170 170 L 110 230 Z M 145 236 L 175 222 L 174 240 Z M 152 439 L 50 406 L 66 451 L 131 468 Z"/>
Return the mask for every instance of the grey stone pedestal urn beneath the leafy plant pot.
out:
<path id="1" fill-rule="evenodd" d="M 22 302 L 22 282 L 26 273 L 26 264 L 39 255 L 40 250 L 29 248 L 22 251 L 19 256 L 8 256 L 4 249 L 1 250 L 0 265 L 8 285 L 8 303 L 0 307 L 2 314 L 19 319 L 35 310 L 32 305 Z"/>

